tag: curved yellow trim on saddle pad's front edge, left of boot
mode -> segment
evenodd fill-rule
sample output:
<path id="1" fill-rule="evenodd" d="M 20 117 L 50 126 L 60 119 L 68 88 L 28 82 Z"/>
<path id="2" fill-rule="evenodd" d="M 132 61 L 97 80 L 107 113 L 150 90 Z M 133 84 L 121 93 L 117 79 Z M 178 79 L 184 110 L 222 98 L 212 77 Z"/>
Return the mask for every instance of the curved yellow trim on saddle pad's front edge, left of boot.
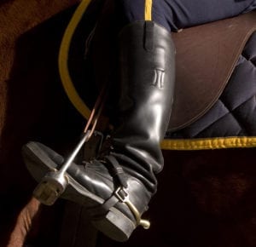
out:
<path id="1" fill-rule="evenodd" d="M 84 101 L 80 98 L 77 90 L 75 89 L 72 79 L 68 70 L 68 53 L 70 43 L 79 21 L 82 19 L 84 11 L 87 9 L 91 0 L 83 0 L 79 3 L 78 8 L 75 10 L 72 19 L 70 20 L 64 36 L 61 41 L 61 48 L 59 52 L 59 72 L 61 76 L 61 83 L 66 91 L 69 100 L 73 103 L 73 106 L 82 114 L 86 119 L 90 117 L 90 109 L 84 104 Z"/>

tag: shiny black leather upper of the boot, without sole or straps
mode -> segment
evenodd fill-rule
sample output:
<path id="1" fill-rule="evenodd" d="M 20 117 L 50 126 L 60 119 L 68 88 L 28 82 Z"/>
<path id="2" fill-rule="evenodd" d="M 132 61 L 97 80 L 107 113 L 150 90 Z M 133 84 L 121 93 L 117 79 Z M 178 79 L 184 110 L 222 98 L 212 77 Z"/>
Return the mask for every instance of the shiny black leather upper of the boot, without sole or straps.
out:
<path id="1" fill-rule="evenodd" d="M 171 114 L 174 53 L 170 33 L 152 21 L 125 26 L 119 34 L 120 118 L 110 155 L 124 169 L 129 197 L 140 214 L 156 192 L 154 174 L 163 166 L 160 141 Z M 110 198 L 122 186 L 112 179 L 108 162 L 95 160 L 84 169 L 71 169 L 70 175 L 101 198 Z M 121 210 L 127 215 L 127 209 Z"/>

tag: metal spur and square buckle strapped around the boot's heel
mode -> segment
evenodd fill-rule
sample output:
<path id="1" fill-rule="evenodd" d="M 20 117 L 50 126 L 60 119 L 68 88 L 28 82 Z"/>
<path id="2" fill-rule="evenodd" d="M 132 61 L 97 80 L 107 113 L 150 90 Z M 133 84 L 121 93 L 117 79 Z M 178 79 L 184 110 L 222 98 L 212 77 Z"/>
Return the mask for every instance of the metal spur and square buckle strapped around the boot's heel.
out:
<path id="1" fill-rule="evenodd" d="M 150 222 L 147 220 L 143 220 L 135 205 L 131 203 L 129 199 L 129 193 L 127 192 L 125 187 L 118 187 L 114 194 L 117 198 L 119 198 L 122 203 L 126 204 L 131 210 L 131 213 L 135 216 L 137 226 L 142 226 L 144 229 L 148 229 L 150 227 Z"/>

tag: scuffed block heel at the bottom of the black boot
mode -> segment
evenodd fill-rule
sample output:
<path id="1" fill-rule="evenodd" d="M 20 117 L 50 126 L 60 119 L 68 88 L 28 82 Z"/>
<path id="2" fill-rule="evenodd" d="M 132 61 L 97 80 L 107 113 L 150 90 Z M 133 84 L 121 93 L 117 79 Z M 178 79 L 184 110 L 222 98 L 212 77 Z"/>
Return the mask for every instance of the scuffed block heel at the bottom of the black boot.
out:
<path id="1" fill-rule="evenodd" d="M 127 241 L 136 228 L 134 222 L 119 210 L 110 210 L 104 218 L 93 220 L 92 223 L 99 231 L 119 242 Z"/>

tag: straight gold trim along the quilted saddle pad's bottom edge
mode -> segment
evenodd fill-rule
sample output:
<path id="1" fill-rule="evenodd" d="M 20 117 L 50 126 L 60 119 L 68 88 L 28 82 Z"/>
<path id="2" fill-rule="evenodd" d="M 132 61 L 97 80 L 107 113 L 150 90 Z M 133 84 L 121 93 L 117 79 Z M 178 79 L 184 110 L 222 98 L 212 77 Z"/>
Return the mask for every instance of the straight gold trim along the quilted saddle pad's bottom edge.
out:
<path id="1" fill-rule="evenodd" d="M 166 139 L 161 142 L 163 150 L 206 150 L 222 148 L 256 147 L 256 137 L 216 137 L 201 139 Z"/>

